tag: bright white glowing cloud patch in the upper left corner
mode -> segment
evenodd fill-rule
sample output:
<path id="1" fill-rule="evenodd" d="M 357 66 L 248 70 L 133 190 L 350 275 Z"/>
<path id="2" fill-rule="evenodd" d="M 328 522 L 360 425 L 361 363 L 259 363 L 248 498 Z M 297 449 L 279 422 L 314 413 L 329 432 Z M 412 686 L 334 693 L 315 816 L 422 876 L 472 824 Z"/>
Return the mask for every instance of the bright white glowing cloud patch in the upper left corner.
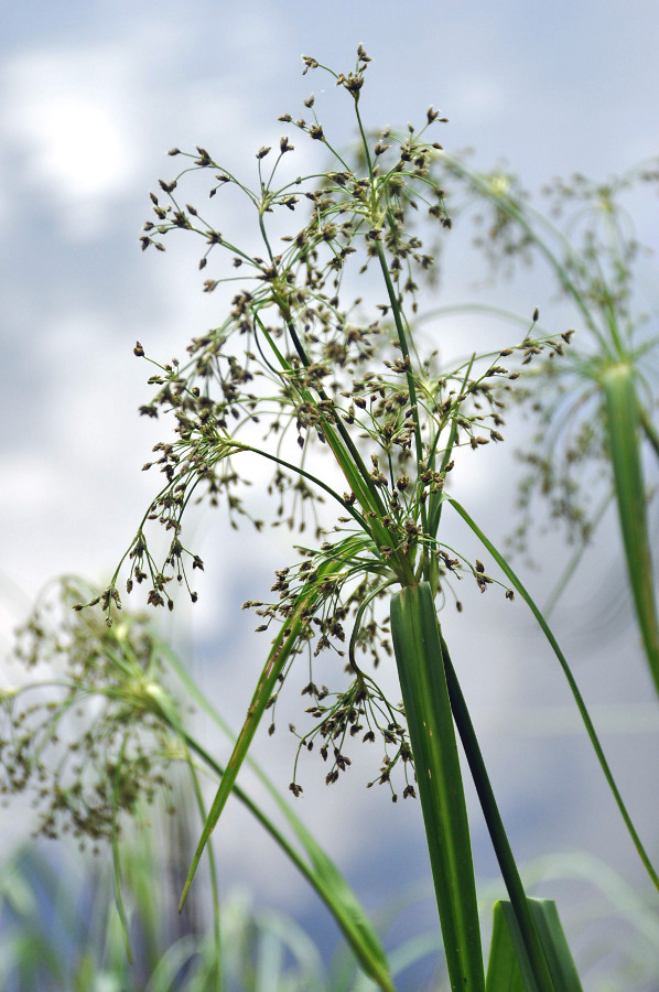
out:
<path id="1" fill-rule="evenodd" d="M 19 193 L 44 196 L 68 237 L 98 233 L 142 172 L 162 168 L 152 158 L 154 143 L 164 151 L 191 133 L 193 142 L 204 142 L 218 122 L 234 147 L 262 143 L 255 114 L 259 80 L 246 79 L 242 68 L 255 61 L 253 51 L 208 76 L 203 61 L 194 63 L 195 28 L 194 21 L 154 26 L 138 17 L 121 36 L 34 46 L 6 60 L 0 170 Z M 233 45 L 247 48 L 245 32 Z M 261 60 L 260 85 L 270 61 Z M 2 212 L 15 201 L 7 197 Z"/>

